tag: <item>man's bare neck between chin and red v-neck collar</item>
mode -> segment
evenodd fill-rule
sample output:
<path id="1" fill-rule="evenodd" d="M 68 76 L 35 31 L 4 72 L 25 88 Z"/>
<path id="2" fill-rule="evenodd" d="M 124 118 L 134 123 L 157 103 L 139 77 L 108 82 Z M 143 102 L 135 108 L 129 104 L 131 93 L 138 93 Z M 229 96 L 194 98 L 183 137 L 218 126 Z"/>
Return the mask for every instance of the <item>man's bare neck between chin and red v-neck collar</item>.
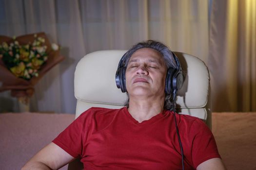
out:
<path id="1" fill-rule="evenodd" d="M 138 122 L 151 119 L 163 111 L 164 96 L 159 98 L 134 98 L 130 96 L 128 111 Z"/>

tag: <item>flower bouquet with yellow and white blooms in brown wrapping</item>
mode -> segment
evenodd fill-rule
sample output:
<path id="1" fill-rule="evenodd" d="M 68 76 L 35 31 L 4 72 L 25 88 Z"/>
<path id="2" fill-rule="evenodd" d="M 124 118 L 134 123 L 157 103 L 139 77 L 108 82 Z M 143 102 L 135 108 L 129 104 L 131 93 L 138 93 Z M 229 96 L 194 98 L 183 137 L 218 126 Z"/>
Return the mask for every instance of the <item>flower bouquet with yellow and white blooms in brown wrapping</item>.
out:
<path id="1" fill-rule="evenodd" d="M 63 59 L 58 45 L 50 44 L 44 33 L 17 38 L 0 35 L 0 92 L 11 90 L 13 97 L 26 103 L 34 85 Z"/>

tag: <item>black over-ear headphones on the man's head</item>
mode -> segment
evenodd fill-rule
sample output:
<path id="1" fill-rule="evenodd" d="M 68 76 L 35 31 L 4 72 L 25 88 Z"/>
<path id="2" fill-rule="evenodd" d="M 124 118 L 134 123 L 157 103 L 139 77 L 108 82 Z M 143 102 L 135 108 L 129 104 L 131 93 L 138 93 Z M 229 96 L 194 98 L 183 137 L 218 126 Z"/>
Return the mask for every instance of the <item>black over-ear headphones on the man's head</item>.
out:
<path id="1" fill-rule="evenodd" d="M 127 92 L 126 82 L 125 82 L 126 66 L 124 62 L 126 58 L 126 53 L 120 59 L 118 64 L 118 70 L 116 72 L 116 84 L 117 84 L 117 87 L 120 88 L 123 93 Z M 167 70 L 166 79 L 165 79 L 165 92 L 167 94 L 172 94 L 172 93 L 176 94 L 177 90 L 179 90 L 183 85 L 182 68 L 180 67 L 178 58 L 175 55 L 175 53 L 172 52 L 172 54 L 177 64 L 177 68 L 169 68 Z"/>

